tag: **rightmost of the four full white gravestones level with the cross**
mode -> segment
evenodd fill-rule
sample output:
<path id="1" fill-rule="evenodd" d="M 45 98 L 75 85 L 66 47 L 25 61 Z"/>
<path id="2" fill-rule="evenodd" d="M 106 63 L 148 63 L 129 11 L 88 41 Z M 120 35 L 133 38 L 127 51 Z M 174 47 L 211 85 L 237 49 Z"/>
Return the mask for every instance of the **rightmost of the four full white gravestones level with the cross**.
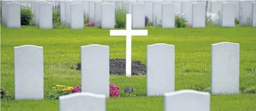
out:
<path id="1" fill-rule="evenodd" d="M 239 93 L 240 46 L 222 42 L 211 45 L 211 93 Z"/>

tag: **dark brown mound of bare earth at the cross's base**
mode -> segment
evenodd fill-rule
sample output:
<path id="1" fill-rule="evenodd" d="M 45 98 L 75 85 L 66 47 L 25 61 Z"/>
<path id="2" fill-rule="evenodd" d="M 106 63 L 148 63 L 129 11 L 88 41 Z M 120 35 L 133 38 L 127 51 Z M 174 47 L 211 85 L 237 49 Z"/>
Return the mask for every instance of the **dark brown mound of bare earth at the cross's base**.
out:
<path id="1" fill-rule="evenodd" d="M 110 74 L 125 74 L 125 59 L 110 59 L 109 60 L 109 73 Z M 81 63 L 78 63 L 77 70 L 81 70 Z M 146 75 L 146 66 L 140 61 L 132 61 L 132 75 Z"/>

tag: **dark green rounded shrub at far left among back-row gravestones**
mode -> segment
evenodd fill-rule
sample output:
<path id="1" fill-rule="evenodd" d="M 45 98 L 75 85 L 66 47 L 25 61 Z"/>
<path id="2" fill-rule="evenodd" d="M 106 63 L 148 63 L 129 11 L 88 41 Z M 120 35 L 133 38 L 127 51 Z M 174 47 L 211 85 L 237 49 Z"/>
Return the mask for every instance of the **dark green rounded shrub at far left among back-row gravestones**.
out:
<path id="1" fill-rule="evenodd" d="M 22 26 L 33 24 L 33 13 L 30 9 L 20 9 L 20 21 Z"/>

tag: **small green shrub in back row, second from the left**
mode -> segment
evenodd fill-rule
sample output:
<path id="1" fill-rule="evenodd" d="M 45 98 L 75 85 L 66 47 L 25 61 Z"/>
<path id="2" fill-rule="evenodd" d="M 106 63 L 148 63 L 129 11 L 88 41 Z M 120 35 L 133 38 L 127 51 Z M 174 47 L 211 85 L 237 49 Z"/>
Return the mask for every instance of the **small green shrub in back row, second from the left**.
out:
<path id="1" fill-rule="evenodd" d="M 60 11 L 53 11 L 53 28 L 62 29 L 65 25 L 61 25 L 60 23 Z"/>

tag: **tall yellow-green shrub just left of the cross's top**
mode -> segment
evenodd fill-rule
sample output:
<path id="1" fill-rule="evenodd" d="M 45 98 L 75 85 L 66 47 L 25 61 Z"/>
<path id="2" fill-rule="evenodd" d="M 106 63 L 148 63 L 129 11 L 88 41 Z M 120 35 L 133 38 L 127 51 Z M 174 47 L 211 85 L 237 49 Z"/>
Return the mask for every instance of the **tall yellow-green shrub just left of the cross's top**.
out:
<path id="1" fill-rule="evenodd" d="M 115 28 L 125 28 L 126 12 L 124 10 L 116 10 Z"/>

